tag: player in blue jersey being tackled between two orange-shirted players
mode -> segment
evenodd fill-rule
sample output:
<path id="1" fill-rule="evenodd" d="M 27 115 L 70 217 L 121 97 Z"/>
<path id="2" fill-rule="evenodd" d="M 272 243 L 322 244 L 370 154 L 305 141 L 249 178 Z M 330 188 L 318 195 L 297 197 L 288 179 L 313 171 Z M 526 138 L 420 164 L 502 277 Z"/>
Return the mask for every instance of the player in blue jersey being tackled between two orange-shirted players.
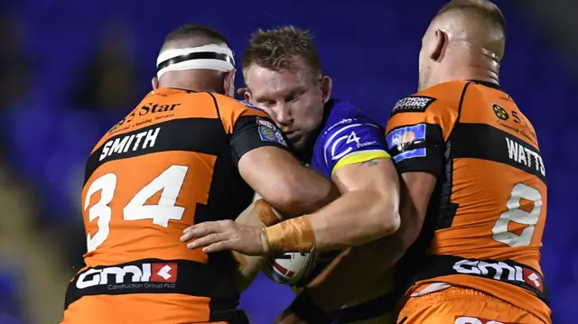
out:
<path id="1" fill-rule="evenodd" d="M 342 196 L 318 212 L 294 218 L 297 221 L 267 227 L 266 245 L 246 235 L 258 233 L 258 228 L 206 223 L 185 233 L 186 240 L 209 234 L 191 247 L 208 245 L 207 252 L 233 249 L 246 254 L 309 252 L 313 247 L 359 245 L 393 233 L 398 225 L 398 176 L 385 149 L 384 130 L 356 106 L 331 98 L 331 78 L 322 74 L 311 34 L 294 27 L 256 32 L 243 56 L 243 73 L 247 101 L 266 110 L 297 156 L 334 181 Z M 368 233 L 366 227 L 375 227 L 374 234 L 362 236 Z M 382 320 L 385 311 L 365 312 L 368 306 L 362 302 L 391 289 L 390 282 L 382 282 L 354 301 L 356 307 L 346 310 L 340 323 Z"/>

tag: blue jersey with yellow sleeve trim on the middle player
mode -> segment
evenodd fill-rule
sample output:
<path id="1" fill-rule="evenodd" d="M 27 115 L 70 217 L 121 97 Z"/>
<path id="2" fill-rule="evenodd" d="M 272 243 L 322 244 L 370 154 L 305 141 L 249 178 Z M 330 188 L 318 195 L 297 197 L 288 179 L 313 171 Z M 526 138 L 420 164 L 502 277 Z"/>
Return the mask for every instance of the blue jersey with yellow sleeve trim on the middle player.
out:
<path id="1" fill-rule="evenodd" d="M 391 158 L 386 151 L 384 133 L 383 128 L 365 116 L 358 107 L 346 101 L 331 99 L 325 106 L 322 131 L 313 146 L 312 168 L 331 179 L 336 171 L 346 165 Z M 319 273 L 334 255 L 325 254 L 322 257 L 325 260 L 318 262 L 314 273 Z M 336 323 L 395 323 L 395 318 L 390 314 L 396 306 L 393 289 L 393 276 L 384 273 L 372 291 L 343 308 Z"/>

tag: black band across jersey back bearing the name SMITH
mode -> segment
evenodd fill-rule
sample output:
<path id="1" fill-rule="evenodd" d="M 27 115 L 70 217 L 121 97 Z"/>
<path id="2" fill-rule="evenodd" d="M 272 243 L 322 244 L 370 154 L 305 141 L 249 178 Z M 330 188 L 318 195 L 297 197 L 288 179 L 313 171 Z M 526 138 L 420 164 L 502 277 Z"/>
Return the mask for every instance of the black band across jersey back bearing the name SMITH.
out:
<path id="1" fill-rule="evenodd" d="M 100 165 L 110 161 L 166 151 L 218 155 L 223 145 L 228 145 L 224 134 L 217 118 L 183 118 L 112 136 L 90 155 L 84 183 Z"/>

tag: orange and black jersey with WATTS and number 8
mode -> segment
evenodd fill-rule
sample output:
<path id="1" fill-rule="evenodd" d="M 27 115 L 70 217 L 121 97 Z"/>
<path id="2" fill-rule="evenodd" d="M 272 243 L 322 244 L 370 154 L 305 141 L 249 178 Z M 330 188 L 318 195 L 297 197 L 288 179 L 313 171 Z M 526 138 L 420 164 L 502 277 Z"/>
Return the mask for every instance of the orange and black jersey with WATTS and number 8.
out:
<path id="1" fill-rule="evenodd" d="M 445 282 L 550 322 L 539 264 L 544 161 L 534 127 L 512 98 L 488 82 L 443 83 L 399 100 L 386 140 L 399 172 L 437 179 L 422 233 L 429 250 L 414 261 L 408 294 Z"/>

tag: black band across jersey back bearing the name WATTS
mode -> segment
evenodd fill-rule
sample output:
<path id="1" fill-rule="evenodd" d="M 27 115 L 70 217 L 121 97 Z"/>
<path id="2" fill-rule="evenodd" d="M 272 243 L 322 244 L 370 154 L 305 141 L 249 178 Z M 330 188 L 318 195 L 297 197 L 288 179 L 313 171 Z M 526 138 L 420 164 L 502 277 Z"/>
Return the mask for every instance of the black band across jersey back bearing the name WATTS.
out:
<path id="1" fill-rule="evenodd" d="M 540 152 L 516 136 L 491 125 L 455 125 L 452 132 L 452 157 L 508 164 L 545 182 L 544 160 Z"/>

